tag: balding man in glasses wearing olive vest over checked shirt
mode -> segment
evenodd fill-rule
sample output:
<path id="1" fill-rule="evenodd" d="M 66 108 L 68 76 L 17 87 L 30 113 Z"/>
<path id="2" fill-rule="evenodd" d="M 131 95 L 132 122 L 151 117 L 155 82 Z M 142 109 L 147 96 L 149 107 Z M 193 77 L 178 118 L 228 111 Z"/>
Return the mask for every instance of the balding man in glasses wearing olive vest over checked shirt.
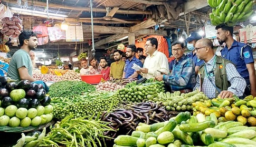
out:
<path id="1" fill-rule="evenodd" d="M 195 44 L 196 56 L 204 60 L 198 70 L 196 86 L 208 98 L 231 98 L 233 95 L 243 96 L 246 86 L 235 66 L 230 60 L 216 56 L 210 39 L 200 39 Z"/>

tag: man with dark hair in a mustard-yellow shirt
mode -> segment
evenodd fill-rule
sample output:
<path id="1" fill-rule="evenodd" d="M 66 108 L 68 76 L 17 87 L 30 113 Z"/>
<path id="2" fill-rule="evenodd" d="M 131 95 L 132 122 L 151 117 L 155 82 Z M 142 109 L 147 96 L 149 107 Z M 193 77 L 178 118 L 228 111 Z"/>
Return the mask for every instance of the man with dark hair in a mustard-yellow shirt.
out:
<path id="1" fill-rule="evenodd" d="M 125 68 L 125 62 L 121 60 L 123 52 L 121 50 L 115 50 L 114 51 L 114 59 L 115 62 L 113 62 L 110 65 L 110 74 L 109 74 L 109 79 L 112 80 L 114 79 L 121 79 L 122 74 L 124 72 Z"/>

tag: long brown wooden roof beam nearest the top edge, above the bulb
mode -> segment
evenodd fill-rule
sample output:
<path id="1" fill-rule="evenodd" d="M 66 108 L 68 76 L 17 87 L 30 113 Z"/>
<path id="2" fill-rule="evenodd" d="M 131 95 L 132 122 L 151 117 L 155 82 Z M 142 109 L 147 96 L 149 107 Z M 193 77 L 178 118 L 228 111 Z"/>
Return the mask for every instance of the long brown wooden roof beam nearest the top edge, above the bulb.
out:
<path id="1" fill-rule="evenodd" d="M 16 0 L 3 0 L 2 2 L 6 2 L 6 3 L 11 3 L 11 4 L 16 4 L 17 1 Z M 39 1 L 32 1 L 32 0 L 27 0 L 27 2 L 29 4 L 33 4 L 34 6 L 46 6 L 46 3 L 44 2 L 39 2 Z M 54 8 L 62 8 L 62 9 L 73 9 L 73 10 L 83 10 L 83 11 L 87 11 L 90 12 L 91 9 L 90 7 L 78 7 L 78 6 L 66 6 L 66 5 L 60 5 L 60 4 L 49 4 L 49 7 L 54 7 Z M 93 8 L 92 9 L 93 12 L 103 12 L 106 13 L 107 10 L 105 8 Z M 150 11 L 143 11 L 143 10 L 126 10 L 126 9 L 119 9 L 117 10 L 118 14 L 151 14 Z"/>

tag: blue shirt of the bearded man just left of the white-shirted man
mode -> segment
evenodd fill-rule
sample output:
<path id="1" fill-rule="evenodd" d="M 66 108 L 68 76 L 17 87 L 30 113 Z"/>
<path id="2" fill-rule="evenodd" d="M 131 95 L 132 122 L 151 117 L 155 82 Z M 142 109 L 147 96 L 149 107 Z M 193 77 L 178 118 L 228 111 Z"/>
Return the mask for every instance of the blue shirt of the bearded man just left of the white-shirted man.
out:
<path id="1" fill-rule="evenodd" d="M 134 74 L 135 70 L 131 68 L 133 66 L 132 64 L 134 63 L 140 67 L 143 67 L 142 62 L 139 59 L 137 59 L 135 56 L 131 60 L 127 59 L 125 61 L 125 69 L 124 69 L 125 78 L 129 78 L 131 75 Z M 139 75 L 137 78 L 140 79 L 141 76 Z"/>

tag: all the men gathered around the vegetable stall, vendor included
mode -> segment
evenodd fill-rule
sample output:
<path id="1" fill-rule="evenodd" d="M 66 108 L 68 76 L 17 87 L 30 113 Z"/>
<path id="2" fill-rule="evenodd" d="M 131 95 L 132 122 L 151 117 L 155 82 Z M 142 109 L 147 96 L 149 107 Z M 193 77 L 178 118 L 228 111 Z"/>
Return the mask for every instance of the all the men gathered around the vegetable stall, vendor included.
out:
<path id="1" fill-rule="evenodd" d="M 198 89 L 208 98 L 228 98 L 233 95 L 240 98 L 249 95 L 256 97 L 256 75 L 251 46 L 233 39 L 233 27 L 221 24 L 216 26 L 216 30 L 220 45 L 225 43 L 221 57 L 215 55 L 210 39 L 192 33 L 186 39 L 186 46 L 179 41 L 172 44 L 172 56 L 175 59 L 170 62 L 165 54 L 157 50 L 157 39 L 148 38 L 144 46 L 146 56 L 143 48 L 128 45 L 125 59 L 122 59 L 124 53 L 121 50 L 113 52 L 115 62 L 110 67 L 105 57 L 100 58 L 99 63 L 96 58 L 89 61 L 82 59 L 80 73 L 103 74 L 104 80 L 155 78 L 164 81 L 169 91 L 187 93 Z M 29 53 L 37 47 L 37 38 L 33 32 L 27 31 L 21 33 L 19 40 L 21 49 L 13 55 L 7 76 L 34 82 Z M 184 54 L 186 48 L 190 51 L 187 55 Z"/>

